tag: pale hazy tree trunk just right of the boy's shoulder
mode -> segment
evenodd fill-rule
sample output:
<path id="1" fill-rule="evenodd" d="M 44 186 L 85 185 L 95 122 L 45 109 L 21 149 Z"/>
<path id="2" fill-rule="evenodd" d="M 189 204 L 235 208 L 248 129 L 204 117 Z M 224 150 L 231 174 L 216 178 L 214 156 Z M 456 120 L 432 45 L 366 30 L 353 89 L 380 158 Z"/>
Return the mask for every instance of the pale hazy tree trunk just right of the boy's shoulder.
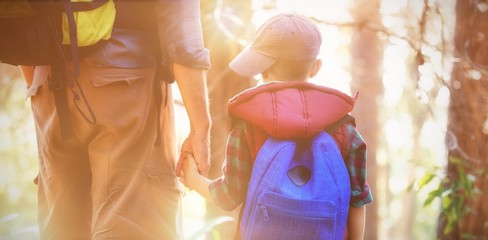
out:
<path id="1" fill-rule="evenodd" d="M 357 128 L 368 146 L 367 152 L 367 181 L 371 191 L 377 193 L 377 164 L 376 146 L 378 144 L 378 106 L 382 96 L 382 59 L 383 46 L 374 29 L 380 26 L 378 0 L 359 0 L 354 2 L 352 16 L 357 26 L 351 42 L 352 92 L 360 92 L 359 99 L 353 112 Z M 369 28 L 373 27 L 373 29 Z M 376 28 L 377 29 L 377 28 Z M 378 239 L 378 200 L 366 207 L 366 240 Z"/>

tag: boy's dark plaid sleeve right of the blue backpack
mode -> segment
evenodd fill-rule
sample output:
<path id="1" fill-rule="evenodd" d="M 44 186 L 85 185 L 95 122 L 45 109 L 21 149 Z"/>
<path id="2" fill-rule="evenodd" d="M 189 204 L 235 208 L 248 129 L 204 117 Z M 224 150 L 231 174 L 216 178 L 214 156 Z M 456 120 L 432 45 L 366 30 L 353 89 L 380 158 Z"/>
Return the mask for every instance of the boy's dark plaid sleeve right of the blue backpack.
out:
<path id="1" fill-rule="evenodd" d="M 373 201 L 366 181 L 366 143 L 352 124 L 346 124 L 349 139 L 345 152 L 345 163 L 351 181 L 350 206 L 362 207 Z"/>

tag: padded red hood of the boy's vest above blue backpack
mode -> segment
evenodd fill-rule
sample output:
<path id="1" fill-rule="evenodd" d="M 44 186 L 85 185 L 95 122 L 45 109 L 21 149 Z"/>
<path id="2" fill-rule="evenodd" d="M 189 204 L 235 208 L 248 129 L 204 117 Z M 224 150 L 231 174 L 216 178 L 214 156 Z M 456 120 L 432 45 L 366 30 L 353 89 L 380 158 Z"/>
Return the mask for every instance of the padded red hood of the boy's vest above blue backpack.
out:
<path id="1" fill-rule="evenodd" d="M 348 113 L 356 99 L 357 94 L 352 98 L 339 90 L 308 82 L 269 82 L 233 97 L 228 112 L 246 122 L 247 142 L 254 159 L 268 136 L 310 138 L 330 127 L 339 127 L 342 121 L 353 120 Z M 344 146 L 340 143 L 347 139 L 340 136 L 339 131 L 334 134 L 339 146 Z"/>

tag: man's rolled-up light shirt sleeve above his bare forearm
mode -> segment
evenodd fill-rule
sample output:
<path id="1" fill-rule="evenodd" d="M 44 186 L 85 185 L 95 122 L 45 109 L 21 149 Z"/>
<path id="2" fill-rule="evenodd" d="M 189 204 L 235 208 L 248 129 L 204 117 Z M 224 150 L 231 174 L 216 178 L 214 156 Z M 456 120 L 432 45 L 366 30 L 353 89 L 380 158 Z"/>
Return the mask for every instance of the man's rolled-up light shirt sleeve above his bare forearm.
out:
<path id="1" fill-rule="evenodd" d="M 210 68 L 203 44 L 198 0 L 160 0 L 155 6 L 158 34 L 165 64 Z"/>

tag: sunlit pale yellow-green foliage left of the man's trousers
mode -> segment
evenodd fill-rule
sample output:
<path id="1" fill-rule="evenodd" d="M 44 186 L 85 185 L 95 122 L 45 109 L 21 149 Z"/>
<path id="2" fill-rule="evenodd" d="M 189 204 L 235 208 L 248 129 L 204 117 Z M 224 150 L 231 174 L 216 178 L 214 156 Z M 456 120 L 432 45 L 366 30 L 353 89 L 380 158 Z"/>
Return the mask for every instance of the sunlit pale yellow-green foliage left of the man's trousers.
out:
<path id="1" fill-rule="evenodd" d="M 18 69 L 0 73 L 0 239 L 38 239 L 32 111 Z"/>

